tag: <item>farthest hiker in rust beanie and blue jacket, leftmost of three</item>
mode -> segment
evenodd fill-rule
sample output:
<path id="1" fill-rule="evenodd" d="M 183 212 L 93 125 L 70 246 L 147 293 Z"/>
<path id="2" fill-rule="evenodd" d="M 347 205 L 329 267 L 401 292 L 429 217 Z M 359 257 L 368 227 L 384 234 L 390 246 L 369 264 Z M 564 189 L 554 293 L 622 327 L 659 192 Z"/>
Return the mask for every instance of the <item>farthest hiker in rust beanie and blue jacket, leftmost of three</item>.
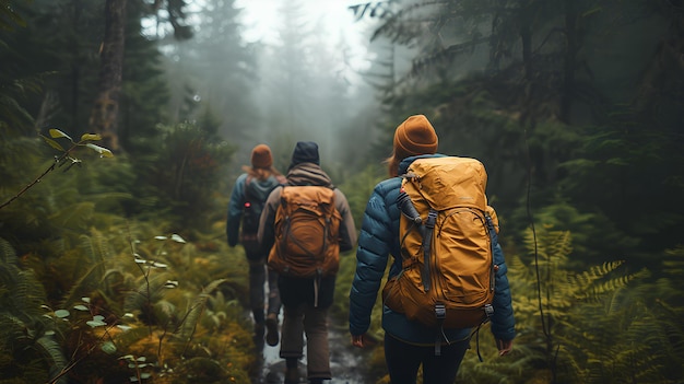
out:
<path id="1" fill-rule="evenodd" d="M 270 346 L 275 346 L 279 340 L 278 315 L 281 309 L 278 275 L 267 270 L 268 252 L 260 247 L 257 231 L 266 199 L 273 188 L 284 184 L 286 179 L 273 167 L 273 156 L 267 144 L 258 144 L 252 149 L 251 166 L 245 165 L 243 171 L 231 194 L 226 235 L 231 247 L 238 242 L 243 245 L 249 264 L 249 306 L 255 321 L 255 344 L 263 346 L 264 328 L 268 328 L 266 340 Z M 264 307 L 267 276 L 269 300 Z"/>

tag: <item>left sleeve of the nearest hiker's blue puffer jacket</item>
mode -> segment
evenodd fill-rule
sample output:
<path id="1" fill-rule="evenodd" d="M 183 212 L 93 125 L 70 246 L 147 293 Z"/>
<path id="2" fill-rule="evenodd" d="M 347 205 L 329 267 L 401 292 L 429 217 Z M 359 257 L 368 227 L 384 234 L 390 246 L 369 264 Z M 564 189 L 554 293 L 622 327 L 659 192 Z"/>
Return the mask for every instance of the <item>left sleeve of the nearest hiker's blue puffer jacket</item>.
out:
<path id="1" fill-rule="evenodd" d="M 392 222 L 384 196 L 382 183 L 378 184 L 364 212 L 358 246 L 356 272 L 350 291 L 350 333 L 363 335 L 370 326 L 370 314 L 382 282 L 390 253 Z"/>

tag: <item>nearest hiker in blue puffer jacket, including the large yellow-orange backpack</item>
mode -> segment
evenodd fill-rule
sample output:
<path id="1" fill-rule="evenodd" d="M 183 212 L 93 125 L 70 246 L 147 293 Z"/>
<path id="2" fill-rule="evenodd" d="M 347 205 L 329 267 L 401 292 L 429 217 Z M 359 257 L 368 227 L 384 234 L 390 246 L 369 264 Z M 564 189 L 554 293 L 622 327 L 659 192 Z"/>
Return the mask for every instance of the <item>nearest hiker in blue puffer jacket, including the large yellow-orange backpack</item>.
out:
<path id="1" fill-rule="evenodd" d="M 484 166 L 438 154 L 437 144 L 424 115 L 397 127 L 391 178 L 376 185 L 358 237 L 350 292 L 352 345 L 372 341 L 366 333 L 391 255 L 382 328 L 392 384 L 416 383 L 421 365 L 423 383 L 453 383 L 473 329 L 487 321 L 499 356 L 510 352 L 515 337 Z"/>

